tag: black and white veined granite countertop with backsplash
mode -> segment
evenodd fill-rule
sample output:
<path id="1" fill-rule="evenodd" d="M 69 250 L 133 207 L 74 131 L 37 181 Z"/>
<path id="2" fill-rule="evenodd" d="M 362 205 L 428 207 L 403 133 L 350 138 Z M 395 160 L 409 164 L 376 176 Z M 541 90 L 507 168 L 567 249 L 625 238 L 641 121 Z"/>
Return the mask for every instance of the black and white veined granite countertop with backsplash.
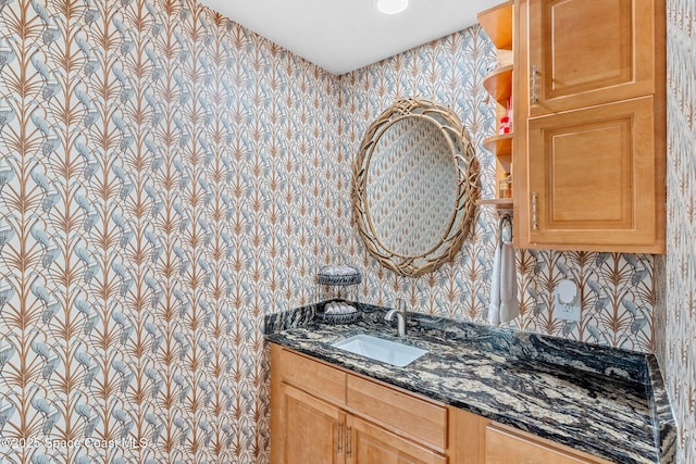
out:
<path id="1" fill-rule="evenodd" d="M 395 337 L 385 309 L 351 325 L 313 308 L 266 316 L 266 339 L 614 463 L 672 464 L 675 427 L 652 354 L 409 313 Z M 357 334 L 428 352 L 405 367 L 333 348 Z"/>

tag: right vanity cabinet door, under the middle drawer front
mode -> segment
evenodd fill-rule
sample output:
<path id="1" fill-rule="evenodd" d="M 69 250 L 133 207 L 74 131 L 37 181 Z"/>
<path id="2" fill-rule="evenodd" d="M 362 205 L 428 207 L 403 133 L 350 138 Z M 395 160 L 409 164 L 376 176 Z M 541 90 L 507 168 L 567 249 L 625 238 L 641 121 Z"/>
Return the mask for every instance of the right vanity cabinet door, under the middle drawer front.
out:
<path id="1" fill-rule="evenodd" d="M 413 441 L 348 416 L 346 461 L 350 464 L 446 464 L 447 459 Z"/>

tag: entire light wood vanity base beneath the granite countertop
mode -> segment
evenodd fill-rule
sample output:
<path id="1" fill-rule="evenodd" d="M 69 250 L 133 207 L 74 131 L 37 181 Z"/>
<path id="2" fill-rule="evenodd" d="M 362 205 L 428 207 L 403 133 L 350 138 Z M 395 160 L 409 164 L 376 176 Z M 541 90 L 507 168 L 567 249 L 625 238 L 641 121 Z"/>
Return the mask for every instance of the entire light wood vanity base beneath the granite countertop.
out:
<path id="1" fill-rule="evenodd" d="M 271 343 L 272 464 L 611 464 Z"/>

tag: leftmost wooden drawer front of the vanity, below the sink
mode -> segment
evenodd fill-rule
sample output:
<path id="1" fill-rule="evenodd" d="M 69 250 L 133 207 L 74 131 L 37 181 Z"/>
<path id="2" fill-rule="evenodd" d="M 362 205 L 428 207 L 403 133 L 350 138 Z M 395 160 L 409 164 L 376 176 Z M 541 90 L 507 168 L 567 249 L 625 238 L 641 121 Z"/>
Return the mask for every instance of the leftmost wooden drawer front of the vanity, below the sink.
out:
<path id="1" fill-rule="evenodd" d="M 277 372 L 278 380 L 334 404 L 346 404 L 346 373 L 275 344 L 272 356 L 273 373 Z"/>

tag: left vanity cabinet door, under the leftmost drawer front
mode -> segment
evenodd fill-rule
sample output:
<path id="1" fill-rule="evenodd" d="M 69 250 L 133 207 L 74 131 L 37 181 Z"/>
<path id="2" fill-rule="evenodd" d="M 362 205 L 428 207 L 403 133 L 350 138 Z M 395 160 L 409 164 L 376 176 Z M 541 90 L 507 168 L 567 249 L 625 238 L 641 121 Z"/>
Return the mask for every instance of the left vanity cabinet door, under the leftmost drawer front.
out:
<path id="1" fill-rule="evenodd" d="M 345 463 L 346 414 L 287 384 L 275 391 L 274 464 Z"/>

